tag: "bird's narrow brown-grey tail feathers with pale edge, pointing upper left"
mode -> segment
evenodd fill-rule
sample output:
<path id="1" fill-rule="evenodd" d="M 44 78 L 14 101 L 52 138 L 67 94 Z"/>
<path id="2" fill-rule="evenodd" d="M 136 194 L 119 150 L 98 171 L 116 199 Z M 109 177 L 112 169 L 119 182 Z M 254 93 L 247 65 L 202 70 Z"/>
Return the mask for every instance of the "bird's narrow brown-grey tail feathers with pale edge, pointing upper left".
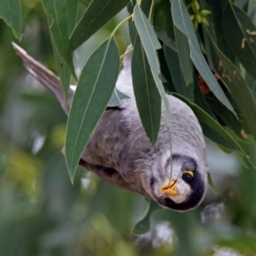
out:
<path id="1" fill-rule="evenodd" d="M 48 68 L 44 67 L 38 61 L 28 55 L 26 51 L 20 48 L 19 45 L 12 43 L 16 51 L 16 54 L 20 56 L 25 64 L 25 67 L 32 76 L 44 85 L 46 89 L 51 91 L 55 97 L 61 102 L 61 107 L 65 113 L 69 113 L 71 101 L 73 98 L 73 90 L 69 90 L 68 99 L 64 96 L 64 91 L 62 89 L 61 79 L 52 73 Z"/>

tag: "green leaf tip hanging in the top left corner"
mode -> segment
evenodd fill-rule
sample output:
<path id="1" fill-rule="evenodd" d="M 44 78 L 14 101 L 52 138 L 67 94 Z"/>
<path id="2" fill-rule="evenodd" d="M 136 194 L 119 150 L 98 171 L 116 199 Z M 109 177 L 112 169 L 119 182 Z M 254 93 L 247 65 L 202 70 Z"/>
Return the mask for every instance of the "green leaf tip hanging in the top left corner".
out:
<path id="1" fill-rule="evenodd" d="M 0 18 L 10 26 L 16 38 L 20 38 L 22 16 L 20 0 L 1 0 Z"/>

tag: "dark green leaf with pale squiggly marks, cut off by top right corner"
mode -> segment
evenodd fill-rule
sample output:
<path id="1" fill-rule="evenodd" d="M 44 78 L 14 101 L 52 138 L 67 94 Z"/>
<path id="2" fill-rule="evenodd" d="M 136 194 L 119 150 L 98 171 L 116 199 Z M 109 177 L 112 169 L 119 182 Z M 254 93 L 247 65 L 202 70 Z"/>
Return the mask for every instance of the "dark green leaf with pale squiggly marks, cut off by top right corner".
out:
<path id="1" fill-rule="evenodd" d="M 256 27 L 251 18 L 228 1 L 224 9 L 224 35 L 247 72 L 256 79 Z"/>

